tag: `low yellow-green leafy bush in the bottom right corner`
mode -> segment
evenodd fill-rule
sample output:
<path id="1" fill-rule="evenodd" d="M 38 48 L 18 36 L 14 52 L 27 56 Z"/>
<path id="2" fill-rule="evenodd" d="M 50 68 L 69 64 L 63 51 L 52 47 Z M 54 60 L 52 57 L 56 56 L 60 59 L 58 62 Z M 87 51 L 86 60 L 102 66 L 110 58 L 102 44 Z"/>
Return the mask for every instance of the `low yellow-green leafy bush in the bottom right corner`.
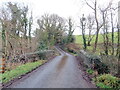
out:
<path id="1" fill-rule="evenodd" d="M 94 82 L 100 88 L 120 88 L 120 78 L 111 74 L 103 74 L 94 78 Z"/>

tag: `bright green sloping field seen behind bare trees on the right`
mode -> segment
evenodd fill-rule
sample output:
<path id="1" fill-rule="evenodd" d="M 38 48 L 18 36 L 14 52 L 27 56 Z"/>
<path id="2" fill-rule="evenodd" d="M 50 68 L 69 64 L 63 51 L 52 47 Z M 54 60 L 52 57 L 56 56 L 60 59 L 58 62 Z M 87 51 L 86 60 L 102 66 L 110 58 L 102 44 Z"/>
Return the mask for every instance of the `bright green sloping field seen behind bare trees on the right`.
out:
<path id="1" fill-rule="evenodd" d="M 111 34 L 112 33 L 109 33 L 108 34 L 108 37 L 109 37 L 109 43 L 112 42 L 112 38 L 111 38 Z M 88 38 L 88 35 L 86 35 L 86 38 Z M 91 52 L 93 51 L 94 49 L 94 43 L 95 43 L 95 38 L 96 36 L 93 37 L 92 41 L 91 41 L 91 46 L 87 46 L 87 51 Z M 114 54 L 116 55 L 116 44 L 117 44 L 117 40 L 118 40 L 118 35 L 117 35 L 117 32 L 114 33 Z M 82 38 L 82 35 L 75 35 L 75 43 L 76 44 L 80 44 L 81 47 L 83 47 L 83 38 Z M 112 54 L 112 46 L 109 45 L 108 47 L 109 51 L 109 55 Z M 99 38 L 98 38 L 98 45 L 97 45 L 97 49 L 96 49 L 96 52 L 94 52 L 95 54 L 99 55 L 101 52 L 104 52 L 105 50 L 105 47 L 104 47 L 104 38 L 103 38 L 103 35 L 102 34 L 99 34 Z"/>

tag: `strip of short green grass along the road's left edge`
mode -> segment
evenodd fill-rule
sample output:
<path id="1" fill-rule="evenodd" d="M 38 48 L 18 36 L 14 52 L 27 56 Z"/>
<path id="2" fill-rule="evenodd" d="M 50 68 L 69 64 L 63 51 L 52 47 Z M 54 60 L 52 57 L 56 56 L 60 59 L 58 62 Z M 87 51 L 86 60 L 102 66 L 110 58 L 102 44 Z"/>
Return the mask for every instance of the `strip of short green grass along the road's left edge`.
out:
<path id="1" fill-rule="evenodd" d="M 29 62 L 29 63 L 26 63 L 24 65 L 18 66 L 17 68 L 15 68 L 11 71 L 6 71 L 5 73 L 0 75 L 1 76 L 0 82 L 7 83 L 10 80 L 19 77 L 20 75 L 23 75 L 23 74 L 26 74 L 26 73 L 32 71 L 33 69 L 42 65 L 45 62 L 46 62 L 46 60 Z"/>

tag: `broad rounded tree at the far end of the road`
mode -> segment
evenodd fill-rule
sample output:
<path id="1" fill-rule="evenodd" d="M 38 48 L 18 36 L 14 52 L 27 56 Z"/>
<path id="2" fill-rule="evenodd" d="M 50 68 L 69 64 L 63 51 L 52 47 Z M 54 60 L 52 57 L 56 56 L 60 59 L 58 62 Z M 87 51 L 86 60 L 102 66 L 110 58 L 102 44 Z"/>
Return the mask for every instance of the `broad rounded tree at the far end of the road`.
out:
<path id="1" fill-rule="evenodd" d="M 44 14 L 37 20 L 39 28 L 36 29 L 36 37 L 46 46 L 52 46 L 62 42 L 65 33 L 65 20 L 56 14 Z M 43 44 L 43 43 L 42 43 Z"/>

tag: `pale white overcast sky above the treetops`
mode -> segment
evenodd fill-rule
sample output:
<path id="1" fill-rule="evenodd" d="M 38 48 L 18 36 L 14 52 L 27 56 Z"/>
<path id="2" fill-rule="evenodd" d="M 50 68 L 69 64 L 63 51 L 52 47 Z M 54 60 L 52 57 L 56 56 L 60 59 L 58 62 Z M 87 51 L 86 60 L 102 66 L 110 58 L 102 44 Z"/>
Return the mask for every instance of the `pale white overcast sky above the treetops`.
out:
<path id="1" fill-rule="evenodd" d="M 84 2 L 82 2 L 84 0 L 0 0 L 0 6 L 9 1 L 27 4 L 33 12 L 34 23 L 36 22 L 36 19 L 44 13 L 55 13 L 65 18 L 72 17 L 77 26 L 79 17 L 83 13 L 87 15 L 88 13 L 93 12 Z M 111 0 L 98 0 L 98 3 L 102 7 L 105 7 L 109 1 Z M 114 3 L 117 3 L 118 1 L 119 0 L 113 0 Z M 34 25 L 34 28 L 35 27 L 36 25 Z M 78 29 L 74 32 L 74 34 L 80 33 L 81 32 Z"/>

